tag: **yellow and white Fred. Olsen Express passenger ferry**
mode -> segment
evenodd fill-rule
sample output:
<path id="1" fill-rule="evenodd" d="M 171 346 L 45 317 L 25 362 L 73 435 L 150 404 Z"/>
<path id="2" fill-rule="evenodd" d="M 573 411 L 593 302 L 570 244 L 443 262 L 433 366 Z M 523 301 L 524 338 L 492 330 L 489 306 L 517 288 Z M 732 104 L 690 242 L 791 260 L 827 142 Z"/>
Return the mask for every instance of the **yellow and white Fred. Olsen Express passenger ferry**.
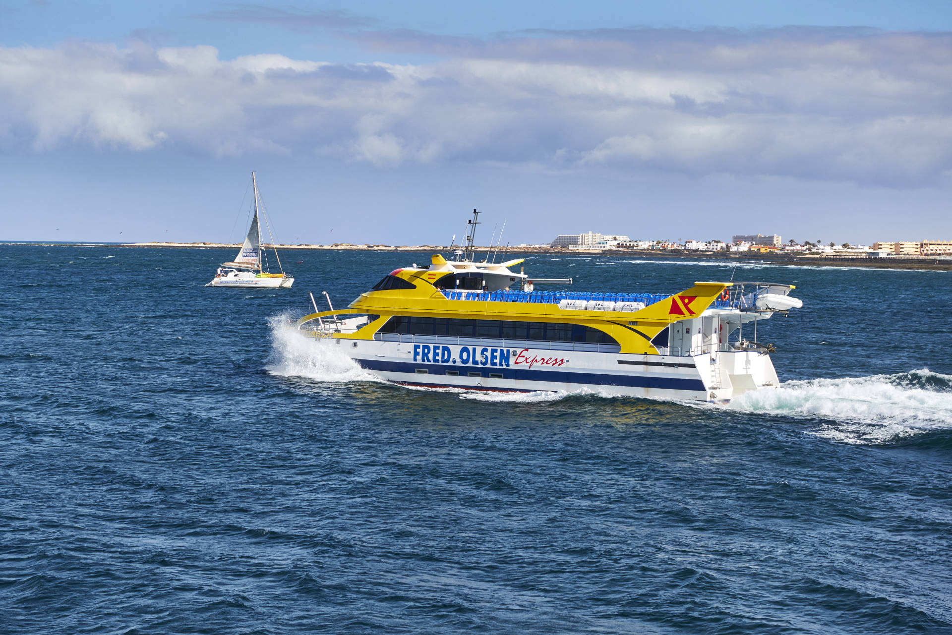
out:
<path id="1" fill-rule="evenodd" d="M 758 324 L 803 307 L 792 285 L 764 282 L 673 295 L 535 290 L 512 269 L 522 259 L 474 262 L 471 236 L 455 254 L 390 271 L 346 309 L 315 304 L 297 328 L 406 386 L 726 404 L 779 387 Z"/>

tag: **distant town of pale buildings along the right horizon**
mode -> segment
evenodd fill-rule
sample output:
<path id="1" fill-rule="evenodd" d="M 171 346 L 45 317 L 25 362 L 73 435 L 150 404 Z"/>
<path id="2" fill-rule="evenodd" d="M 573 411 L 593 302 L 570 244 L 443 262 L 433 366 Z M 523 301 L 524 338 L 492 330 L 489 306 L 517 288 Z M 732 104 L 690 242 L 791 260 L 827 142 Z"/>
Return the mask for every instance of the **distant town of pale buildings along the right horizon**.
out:
<path id="1" fill-rule="evenodd" d="M 545 247 L 522 245 L 521 247 Z M 548 244 L 549 248 L 603 251 L 606 249 L 659 249 L 664 251 L 755 251 L 761 253 L 790 252 L 817 256 L 851 256 L 863 258 L 935 257 L 952 255 L 950 240 L 881 241 L 867 245 L 837 245 L 823 241 L 790 239 L 786 243 L 779 234 L 738 234 L 729 243 L 720 240 L 685 240 L 674 243 L 664 240 L 633 240 L 619 234 L 601 234 L 589 231 L 583 234 L 560 234 Z"/>

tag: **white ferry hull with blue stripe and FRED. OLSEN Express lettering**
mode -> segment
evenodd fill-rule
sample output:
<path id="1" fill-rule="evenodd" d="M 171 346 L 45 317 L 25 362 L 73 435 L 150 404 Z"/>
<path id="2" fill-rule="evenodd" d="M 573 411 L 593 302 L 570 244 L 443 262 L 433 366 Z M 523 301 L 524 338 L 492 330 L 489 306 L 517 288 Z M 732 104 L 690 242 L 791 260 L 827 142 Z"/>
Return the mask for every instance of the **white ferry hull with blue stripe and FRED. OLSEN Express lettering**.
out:
<path id="1" fill-rule="evenodd" d="M 322 335 L 311 333 L 313 337 Z M 755 351 L 633 355 L 549 349 L 545 343 L 484 340 L 478 345 L 461 345 L 452 343 L 457 338 L 441 338 L 446 344 L 427 339 L 427 344 L 419 339 L 326 341 L 373 374 L 409 386 L 524 392 L 587 389 L 617 396 L 724 404 L 748 390 L 779 385 L 769 356 Z M 532 345 L 544 348 L 528 347 Z"/>

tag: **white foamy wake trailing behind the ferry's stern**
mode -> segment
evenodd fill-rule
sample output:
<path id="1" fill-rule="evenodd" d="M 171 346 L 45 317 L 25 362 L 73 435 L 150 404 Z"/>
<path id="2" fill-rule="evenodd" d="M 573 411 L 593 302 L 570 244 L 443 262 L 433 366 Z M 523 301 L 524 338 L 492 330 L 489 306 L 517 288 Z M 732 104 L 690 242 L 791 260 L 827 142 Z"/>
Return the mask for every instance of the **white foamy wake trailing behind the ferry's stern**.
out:
<path id="1" fill-rule="evenodd" d="M 894 375 L 785 382 L 746 392 L 731 409 L 823 419 L 810 434 L 850 444 L 902 442 L 952 430 L 952 375 L 928 368 Z"/>

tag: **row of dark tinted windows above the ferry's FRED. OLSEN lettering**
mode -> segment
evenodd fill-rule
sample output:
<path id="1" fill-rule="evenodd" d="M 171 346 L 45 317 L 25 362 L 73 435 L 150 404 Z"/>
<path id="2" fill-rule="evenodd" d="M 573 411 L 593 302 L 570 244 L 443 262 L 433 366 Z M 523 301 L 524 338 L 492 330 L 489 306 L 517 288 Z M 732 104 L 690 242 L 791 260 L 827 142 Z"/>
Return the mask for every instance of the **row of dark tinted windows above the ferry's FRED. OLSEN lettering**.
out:
<path id="1" fill-rule="evenodd" d="M 615 338 L 597 328 L 574 324 L 515 322 L 512 320 L 464 320 L 394 315 L 378 332 L 399 333 L 401 335 L 482 337 L 495 340 L 618 344 Z"/>

